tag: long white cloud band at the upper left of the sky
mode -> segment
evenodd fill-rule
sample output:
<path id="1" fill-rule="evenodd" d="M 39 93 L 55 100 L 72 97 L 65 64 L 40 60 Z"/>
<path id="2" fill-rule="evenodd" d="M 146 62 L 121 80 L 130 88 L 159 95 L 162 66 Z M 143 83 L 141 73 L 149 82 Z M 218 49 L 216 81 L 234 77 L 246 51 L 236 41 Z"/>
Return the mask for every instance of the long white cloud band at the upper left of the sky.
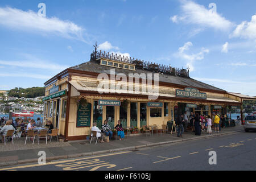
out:
<path id="1" fill-rule="evenodd" d="M 68 39 L 78 39 L 86 42 L 82 36 L 84 29 L 68 20 L 41 17 L 34 11 L 22 11 L 11 7 L 0 7 L 0 25 L 22 31 L 38 32 L 62 36 Z"/>

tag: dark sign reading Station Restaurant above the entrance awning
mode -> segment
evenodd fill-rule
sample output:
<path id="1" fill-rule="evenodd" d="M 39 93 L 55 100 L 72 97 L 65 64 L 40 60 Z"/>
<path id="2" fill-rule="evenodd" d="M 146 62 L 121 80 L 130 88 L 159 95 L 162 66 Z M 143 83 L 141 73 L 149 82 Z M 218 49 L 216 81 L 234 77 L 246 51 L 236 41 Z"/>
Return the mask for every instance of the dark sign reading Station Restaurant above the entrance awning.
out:
<path id="1" fill-rule="evenodd" d="M 176 89 L 176 97 L 187 97 L 187 98 L 197 98 L 197 99 L 207 99 L 207 94 L 199 92 L 198 89 L 194 88 L 185 88 L 184 90 Z"/>

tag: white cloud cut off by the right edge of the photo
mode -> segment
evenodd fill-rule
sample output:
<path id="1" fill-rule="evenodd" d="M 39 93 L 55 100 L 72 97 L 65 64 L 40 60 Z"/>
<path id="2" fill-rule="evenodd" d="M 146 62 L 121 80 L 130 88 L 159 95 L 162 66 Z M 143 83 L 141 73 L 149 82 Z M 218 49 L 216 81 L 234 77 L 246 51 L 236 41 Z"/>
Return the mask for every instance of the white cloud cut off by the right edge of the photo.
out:
<path id="1" fill-rule="evenodd" d="M 230 38 L 256 39 L 256 15 L 251 16 L 251 21 L 238 24 Z"/>

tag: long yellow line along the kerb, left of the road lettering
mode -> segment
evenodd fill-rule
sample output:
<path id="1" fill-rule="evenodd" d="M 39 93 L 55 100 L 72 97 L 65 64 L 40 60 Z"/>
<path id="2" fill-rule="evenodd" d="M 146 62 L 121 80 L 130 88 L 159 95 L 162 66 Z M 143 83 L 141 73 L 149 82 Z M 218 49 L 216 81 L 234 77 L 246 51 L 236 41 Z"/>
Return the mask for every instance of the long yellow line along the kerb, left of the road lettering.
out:
<path id="1" fill-rule="evenodd" d="M 30 164 L 30 165 L 25 165 L 25 166 L 16 166 L 16 167 L 10 167 L 10 168 L 2 168 L 2 169 L 0 169 L 0 171 L 10 170 L 10 169 L 28 168 L 28 167 L 47 166 L 47 165 L 52 165 L 52 164 L 60 164 L 60 163 L 75 162 L 75 161 L 77 161 L 77 160 L 102 158 L 102 157 L 105 157 L 105 156 L 118 155 L 118 154 L 127 154 L 127 153 L 130 153 L 130 151 L 127 151 L 127 152 L 119 152 L 119 153 L 115 153 L 115 154 L 106 154 L 106 155 L 100 155 L 100 156 L 92 156 L 92 157 L 81 158 L 81 159 L 71 159 L 71 160 L 61 160 L 61 161 L 56 161 L 56 162 L 48 162 L 48 163 L 46 163 L 46 164 Z"/>

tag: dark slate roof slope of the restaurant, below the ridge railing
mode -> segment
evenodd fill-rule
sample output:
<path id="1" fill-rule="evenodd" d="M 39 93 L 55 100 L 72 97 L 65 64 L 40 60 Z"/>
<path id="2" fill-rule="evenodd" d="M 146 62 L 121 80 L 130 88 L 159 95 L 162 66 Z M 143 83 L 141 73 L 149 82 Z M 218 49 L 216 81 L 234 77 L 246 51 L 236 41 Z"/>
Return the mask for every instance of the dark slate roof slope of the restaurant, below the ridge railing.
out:
<path id="1" fill-rule="evenodd" d="M 80 65 L 76 65 L 70 68 L 77 69 L 80 71 L 89 71 L 89 72 L 107 73 L 107 74 L 110 74 L 110 69 L 113 69 L 113 67 L 108 67 L 105 65 L 98 64 L 96 60 L 90 60 L 86 63 L 82 63 Z M 127 76 L 129 75 L 129 73 L 138 73 L 139 75 L 141 73 L 145 73 L 146 75 L 147 73 L 154 73 L 152 71 L 139 69 L 139 68 L 137 68 L 136 71 L 131 71 L 131 70 L 122 69 L 122 68 L 114 68 L 114 69 L 115 69 L 115 75 L 117 75 L 118 73 L 124 73 Z M 215 90 L 219 92 L 226 92 L 225 90 L 216 88 L 212 85 L 205 84 L 204 82 L 201 82 L 201 81 L 194 80 L 193 78 L 190 78 L 190 77 L 173 76 L 166 73 L 159 73 L 159 82 L 167 82 L 170 84 L 183 85 L 187 87 L 203 88 L 203 89 Z"/>

